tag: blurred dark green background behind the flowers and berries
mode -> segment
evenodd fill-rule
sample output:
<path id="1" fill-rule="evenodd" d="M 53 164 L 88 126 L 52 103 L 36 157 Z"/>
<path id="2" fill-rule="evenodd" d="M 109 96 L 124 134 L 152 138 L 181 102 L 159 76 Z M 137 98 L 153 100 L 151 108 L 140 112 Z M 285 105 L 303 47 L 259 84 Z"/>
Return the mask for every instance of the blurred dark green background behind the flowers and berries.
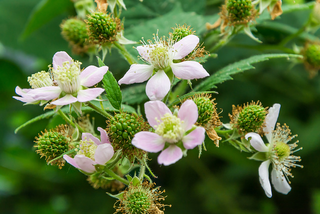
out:
<path id="1" fill-rule="evenodd" d="M 109 197 L 106 190 L 93 189 L 86 182 L 86 177 L 68 164 L 61 170 L 46 165 L 44 159 L 34 152 L 34 137 L 57 123 L 58 117 L 38 121 L 17 134 L 13 132 L 43 112 L 43 107 L 23 106 L 13 99 L 15 86 L 29 88 L 27 76 L 47 70 L 55 52 L 66 51 L 73 59 L 81 61 L 82 67 L 97 66 L 95 60 L 71 54 L 67 42 L 60 36 L 59 24 L 63 19 L 74 16 L 75 12 L 67 0 L 55 1 L 61 4 L 58 10 L 52 7 L 57 16 L 24 39 L 21 35 L 30 14 L 40 2 L 50 1 L 0 1 L 0 212 L 113 213 L 115 199 Z M 150 39 L 157 29 L 159 35 L 167 35 L 175 24 L 186 23 L 196 30 L 206 49 L 214 45 L 214 39 L 207 34 L 204 25 L 217 19 L 219 0 L 144 0 L 143 3 L 124 0 L 124 3 L 127 11 L 122 15 L 128 39 Z M 255 35 L 264 44 L 276 44 L 287 33 L 274 30 L 273 23 L 298 29 L 308 19 L 309 13 L 310 10 L 297 10 L 283 14 L 273 22 L 257 22 L 258 33 Z M 294 42 L 299 46 L 304 43 L 299 39 Z M 243 44 L 258 46 L 246 36 L 238 35 L 217 52 L 217 58 L 209 58 L 203 64 L 204 68 L 213 74 L 249 56 L 281 53 L 241 48 Z M 127 49 L 137 55 L 130 45 Z M 116 50 L 107 55 L 104 63 L 116 79 L 129 68 Z M 227 143 L 221 142 L 217 148 L 207 140 L 207 151 L 200 159 L 197 149 L 193 149 L 177 163 L 159 166 L 157 154 L 150 154 L 150 167 L 159 177 L 154 181 L 165 189 L 165 204 L 172 204 L 165 209 L 166 214 L 320 213 L 320 78 L 309 79 L 303 64 L 285 59 L 273 59 L 254 66 L 254 70 L 237 74 L 233 76 L 234 80 L 218 85 L 215 89 L 218 94 L 214 95 L 217 108 L 223 109 L 221 121 L 227 123 L 232 104 L 240 105 L 251 100 L 260 100 L 263 106 L 281 104 L 278 122 L 289 125 L 292 133 L 298 134 L 299 146 L 303 147 L 295 155 L 301 156 L 304 167 L 292 169 L 291 191 L 283 195 L 272 188 L 273 195 L 267 198 L 258 181 L 260 162 L 248 160 L 250 154 L 240 153 Z M 95 117 L 95 127 L 105 127 L 103 118 L 96 114 L 91 116 Z"/>

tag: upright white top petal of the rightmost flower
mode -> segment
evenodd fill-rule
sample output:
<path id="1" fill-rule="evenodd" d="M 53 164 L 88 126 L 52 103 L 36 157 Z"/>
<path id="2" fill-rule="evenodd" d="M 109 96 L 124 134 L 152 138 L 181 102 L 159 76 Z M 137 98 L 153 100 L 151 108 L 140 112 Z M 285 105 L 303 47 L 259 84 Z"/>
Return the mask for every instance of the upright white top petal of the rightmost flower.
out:
<path id="1" fill-rule="evenodd" d="M 272 131 L 274 130 L 276 120 L 279 116 L 281 105 L 278 103 L 273 104 L 271 108 L 269 108 L 269 113 L 265 116 L 265 127 L 263 127 L 263 132 L 265 134 L 266 139 L 268 142 L 271 142 L 272 138 Z"/>

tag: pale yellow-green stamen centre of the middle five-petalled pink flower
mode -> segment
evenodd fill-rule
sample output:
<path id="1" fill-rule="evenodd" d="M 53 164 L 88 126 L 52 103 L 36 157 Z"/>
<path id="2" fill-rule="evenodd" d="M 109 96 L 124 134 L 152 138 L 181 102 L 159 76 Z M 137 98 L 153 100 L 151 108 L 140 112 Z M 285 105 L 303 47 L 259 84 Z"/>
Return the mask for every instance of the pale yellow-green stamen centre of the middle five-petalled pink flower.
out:
<path id="1" fill-rule="evenodd" d="M 183 121 L 170 113 L 165 113 L 161 120 L 162 122 L 155 126 L 155 133 L 162 136 L 168 143 L 178 142 L 184 134 L 181 127 Z"/>

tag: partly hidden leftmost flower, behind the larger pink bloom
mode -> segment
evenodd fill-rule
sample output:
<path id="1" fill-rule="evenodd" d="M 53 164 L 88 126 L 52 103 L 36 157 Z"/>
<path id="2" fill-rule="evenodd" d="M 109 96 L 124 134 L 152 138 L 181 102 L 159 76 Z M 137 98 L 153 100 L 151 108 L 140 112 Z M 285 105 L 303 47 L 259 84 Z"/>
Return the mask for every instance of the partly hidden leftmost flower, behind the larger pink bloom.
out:
<path id="1" fill-rule="evenodd" d="M 19 86 L 15 87 L 15 93 L 21 97 L 13 96 L 14 99 L 24 102 L 26 104 L 38 104 L 43 105 L 47 103 L 46 100 L 38 100 L 34 99 L 32 96 L 28 94 L 29 91 L 32 91 L 36 88 L 52 86 L 52 79 L 48 72 L 40 71 L 35 74 L 32 74 L 28 77 L 28 83 L 31 88 L 21 89 Z"/>

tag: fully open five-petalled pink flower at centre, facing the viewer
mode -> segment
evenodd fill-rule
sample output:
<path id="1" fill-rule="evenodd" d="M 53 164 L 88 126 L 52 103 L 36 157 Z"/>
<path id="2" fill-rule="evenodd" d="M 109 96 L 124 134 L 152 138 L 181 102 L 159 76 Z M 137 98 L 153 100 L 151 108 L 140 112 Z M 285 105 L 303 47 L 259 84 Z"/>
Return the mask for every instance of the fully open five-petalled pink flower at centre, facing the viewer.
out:
<path id="1" fill-rule="evenodd" d="M 205 129 L 195 126 L 198 118 L 196 104 L 186 100 L 179 111 L 172 114 L 161 101 L 144 104 L 145 116 L 155 130 L 141 131 L 134 135 L 131 143 L 147 152 L 159 152 L 159 164 L 170 165 L 181 159 L 187 149 L 193 149 L 204 141 Z"/>

